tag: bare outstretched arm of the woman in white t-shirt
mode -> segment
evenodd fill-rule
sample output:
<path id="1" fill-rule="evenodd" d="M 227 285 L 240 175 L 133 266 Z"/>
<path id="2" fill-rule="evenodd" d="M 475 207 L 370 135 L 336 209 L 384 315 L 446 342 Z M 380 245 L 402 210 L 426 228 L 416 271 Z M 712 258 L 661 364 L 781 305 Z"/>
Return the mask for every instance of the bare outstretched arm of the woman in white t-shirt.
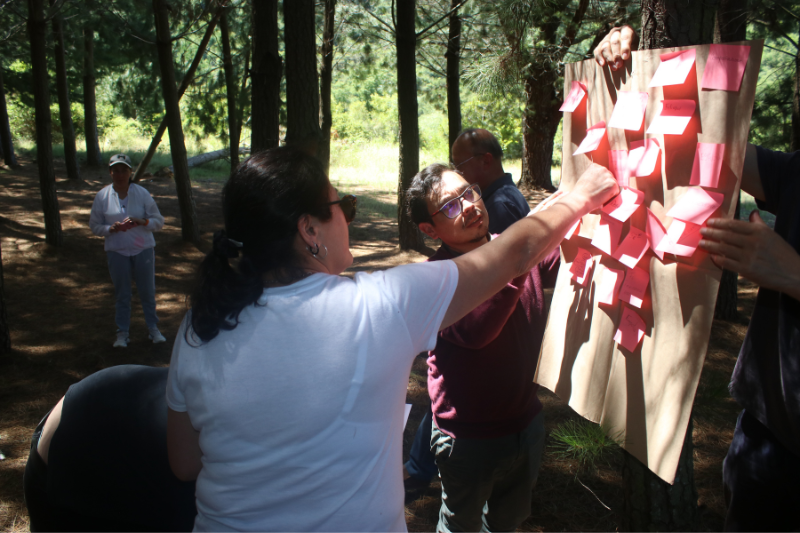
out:
<path id="1" fill-rule="evenodd" d="M 440 330 L 497 293 L 509 280 L 530 271 L 561 243 L 578 218 L 600 208 L 618 192 L 614 175 L 592 164 L 546 215 L 531 214 L 496 239 L 455 258 L 458 284 Z"/>

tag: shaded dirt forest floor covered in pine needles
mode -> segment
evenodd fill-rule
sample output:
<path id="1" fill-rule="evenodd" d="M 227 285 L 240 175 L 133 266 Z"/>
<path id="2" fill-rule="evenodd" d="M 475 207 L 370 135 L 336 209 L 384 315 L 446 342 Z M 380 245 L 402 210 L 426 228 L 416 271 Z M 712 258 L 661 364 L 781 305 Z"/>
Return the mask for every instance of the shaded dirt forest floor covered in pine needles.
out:
<path id="1" fill-rule="evenodd" d="M 102 238 L 89 231 L 94 195 L 109 183 L 105 168 L 84 168 L 81 184 L 58 179 L 64 245 L 44 242 L 38 174 L 35 164 L 20 157 L 21 168 L 0 170 L 0 244 L 2 245 L 5 303 L 11 328 L 12 351 L 0 358 L 0 530 L 27 531 L 22 475 L 30 436 L 42 416 L 67 388 L 100 369 L 119 364 L 167 366 L 171 342 L 153 345 L 138 300 L 134 298 L 131 343 L 114 349 L 114 296 Z M 63 163 L 56 175 L 64 176 Z M 166 219 L 156 235 L 157 306 L 161 331 L 173 339 L 186 311 L 186 294 L 195 266 L 213 231 L 221 227 L 221 183 L 194 183 L 205 245 L 185 244 L 174 183 L 144 185 Z M 368 191 L 346 191 L 368 193 Z M 529 195 L 531 205 L 542 198 Z M 390 202 L 391 199 L 382 199 Z M 433 243 L 431 243 L 434 245 Z M 375 270 L 425 260 L 415 252 L 400 252 L 394 220 L 359 215 L 351 226 L 356 257 L 351 271 Z M 736 354 L 752 310 L 755 287 L 740 280 L 740 319 L 716 321 L 694 410 L 694 460 L 699 495 L 698 530 L 722 529 L 725 504 L 721 464 L 733 435 L 738 408 L 726 389 Z M 404 434 L 408 453 L 414 433 L 429 402 L 425 360 L 418 357 L 408 384 L 413 404 Z M 577 415 L 552 393 L 542 390 L 549 432 Z M 525 531 L 613 531 L 622 512 L 622 480 L 618 454 L 595 468 L 556 456 L 548 436 L 548 451 L 533 492 L 531 516 Z M 435 529 L 440 505 L 437 482 L 408 503 L 411 531 Z"/>

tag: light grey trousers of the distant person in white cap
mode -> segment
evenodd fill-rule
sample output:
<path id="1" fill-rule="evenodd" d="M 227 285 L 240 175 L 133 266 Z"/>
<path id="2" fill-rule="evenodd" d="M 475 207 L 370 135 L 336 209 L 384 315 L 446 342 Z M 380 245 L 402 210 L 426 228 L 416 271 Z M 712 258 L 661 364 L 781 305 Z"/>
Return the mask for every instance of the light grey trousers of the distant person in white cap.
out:
<path id="1" fill-rule="evenodd" d="M 126 256 L 117 252 L 106 252 L 108 271 L 114 283 L 117 298 L 116 322 L 120 331 L 128 331 L 131 324 L 131 279 L 136 281 L 136 290 L 142 302 L 147 328 L 158 325 L 156 315 L 156 254 L 147 248 L 136 255 Z"/>

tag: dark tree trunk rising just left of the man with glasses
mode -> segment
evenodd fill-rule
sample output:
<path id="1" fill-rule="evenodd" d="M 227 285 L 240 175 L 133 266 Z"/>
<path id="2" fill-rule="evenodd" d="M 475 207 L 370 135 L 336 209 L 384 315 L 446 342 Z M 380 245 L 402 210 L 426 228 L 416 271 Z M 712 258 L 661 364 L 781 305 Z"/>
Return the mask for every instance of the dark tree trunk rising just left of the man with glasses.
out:
<path id="1" fill-rule="evenodd" d="M 406 213 L 406 191 L 419 171 L 419 117 L 417 107 L 416 0 L 397 2 L 397 113 L 400 118 L 400 176 L 397 183 L 397 225 L 400 249 L 419 250 L 424 241 Z"/>

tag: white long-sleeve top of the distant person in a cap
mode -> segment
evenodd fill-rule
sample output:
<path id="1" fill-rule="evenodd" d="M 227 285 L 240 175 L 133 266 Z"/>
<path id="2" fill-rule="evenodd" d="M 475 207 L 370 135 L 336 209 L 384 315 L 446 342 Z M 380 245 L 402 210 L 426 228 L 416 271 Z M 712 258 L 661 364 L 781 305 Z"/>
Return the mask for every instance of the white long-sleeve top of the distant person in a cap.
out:
<path id="1" fill-rule="evenodd" d="M 131 183 L 128 187 L 128 206 L 123 210 L 120 206 L 119 194 L 113 185 L 103 187 L 94 197 L 92 213 L 89 216 L 89 227 L 92 233 L 105 237 L 105 250 L 132 256 L 142 250 L 153 248 L 156 240 L 153 232 L 164 227 L 164 217 L 158 210 L 153 197 L 144 187 Z M 127 217 L 146 218 L 146 226 L 136 226 L 128 231 L 111 233 L 109 230 L 115 222 L 122 222 Z"/>

